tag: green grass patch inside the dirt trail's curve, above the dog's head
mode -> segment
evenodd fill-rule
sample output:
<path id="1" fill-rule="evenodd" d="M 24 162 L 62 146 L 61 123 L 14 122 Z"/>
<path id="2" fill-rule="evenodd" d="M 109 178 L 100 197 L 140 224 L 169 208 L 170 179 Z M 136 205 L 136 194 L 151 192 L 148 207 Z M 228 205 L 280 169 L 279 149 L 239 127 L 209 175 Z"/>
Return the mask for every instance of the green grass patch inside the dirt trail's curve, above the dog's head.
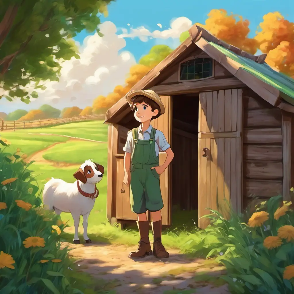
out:
<path id="1" fill-rule="evenodd" d="M 73 164 L 81 164 L 91 158 L 105 167 L 107 165 L 107 143 L 68 141 L 45 151 L 43 158 L 50 161 Z"/>

